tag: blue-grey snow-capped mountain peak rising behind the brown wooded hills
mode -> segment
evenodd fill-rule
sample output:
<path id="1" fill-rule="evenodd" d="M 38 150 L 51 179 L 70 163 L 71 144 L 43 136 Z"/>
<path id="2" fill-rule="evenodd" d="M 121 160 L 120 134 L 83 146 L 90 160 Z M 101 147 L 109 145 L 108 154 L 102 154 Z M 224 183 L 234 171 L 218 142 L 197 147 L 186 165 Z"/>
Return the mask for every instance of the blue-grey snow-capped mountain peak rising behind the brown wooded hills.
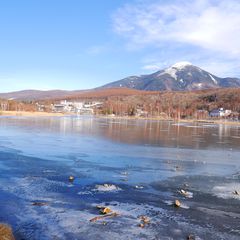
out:
<path id="1" fill-rule="evenodd" d="M 190 91 L 240 87 L 240 79 L 220 78 L 189 62 L 179 62 L 153 74 L 131 76 L 103 86 L 103 88 L 113 87 L 127 87 L 147 91 Z"/>

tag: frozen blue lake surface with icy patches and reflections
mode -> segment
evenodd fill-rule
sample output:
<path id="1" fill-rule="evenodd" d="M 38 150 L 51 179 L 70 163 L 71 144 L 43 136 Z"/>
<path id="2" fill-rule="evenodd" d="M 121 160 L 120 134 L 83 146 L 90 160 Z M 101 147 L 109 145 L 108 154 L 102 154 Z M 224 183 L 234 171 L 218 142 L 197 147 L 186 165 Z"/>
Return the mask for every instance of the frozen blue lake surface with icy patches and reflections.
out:
<path id="1" fill-rule="evenodd" d="M 0 173 L 18 240 L 240 239 L 238 126 L 1 117 Z"/>

